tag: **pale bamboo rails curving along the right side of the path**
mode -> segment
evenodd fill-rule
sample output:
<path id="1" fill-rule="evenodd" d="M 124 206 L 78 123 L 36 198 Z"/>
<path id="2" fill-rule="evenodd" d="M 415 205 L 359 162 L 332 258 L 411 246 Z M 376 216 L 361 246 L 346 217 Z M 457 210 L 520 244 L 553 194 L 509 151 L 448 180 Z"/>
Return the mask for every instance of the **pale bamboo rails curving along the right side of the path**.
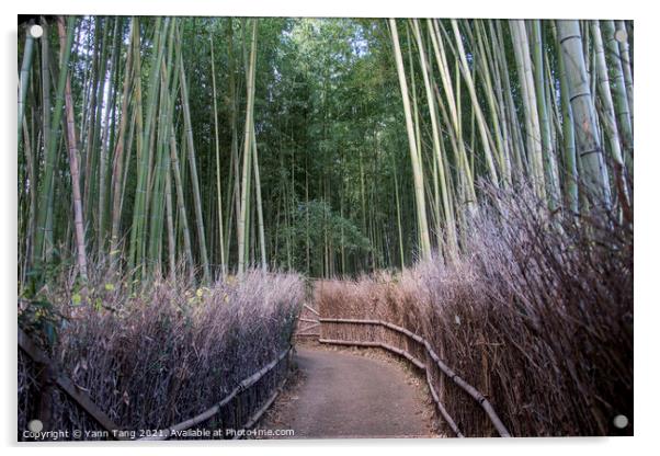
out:
<path id="1" fill-rule="evenodd" d="M 491 403 L 486 399 L 486 397 L 479 392 L 475 387 L 469 385 L 463 378 L 460 378 L 453 369 L 451 369 L 446 364 L 444 364 L 440 356 L 435 353 L 429 341 L 423 339 L 422 337 L 407 330 L 406 328 L 401 328 L 388 321 L 382 320 L 367 320 L 367 319 L 348 319 L 348 318 L 320 318 L 321 331 L 320 331 L 320 343 L 327 344 L 339 344 L 339 345 L 356 345 L 356 346 L 373 346 L 373 347 L 382 347 L 388 350 L 390 352 L 397 353 L 400 356 L 406 357 L 412 364 L 418 366 L 419 368 L 425 371 L 426 374 L 426 384 L 429 385 L 429 389 L 431 390 L 431 395 L 433 396 L 433 401 L 435 402 L 440 413 L 443 415 L 452 431 L 458 437 L 463 437 L 463 433 L 456 425 L 454 419 L 450 415 L 447 410 L 444 408 L 442 402 L 440 401 L 440 392 L 436 390 L 433 385 L 433 371 L 439 369 L 442 374 L 444 374 L 451 381 L 457 385 L 460 389 L 467 392 L 473 399 L 477 401 L 479 407 L 483 409 L 488 419 L 497 430 L 497 432 L 502 437 L 510 437 L 511 434 L 496 413 Z M 355 339 L 344 339 L 342 337 L 341 331 L 332 331 L 333 326 L 359 326 L 369 328 L 371 331 L 367 332 L 367 338 L 369 340 L 364 340 L 362 334 L 352 333 L 351 335 L 356 337 Z M 383 331 L 378 331 L 378 329 L 386 329 L 394 331 L 396 334 L 400 334 L 405 338 L 403 341 L 400 341 L 399 346 L 395 346 L 390 343 L 385 342 L 385 334 Z M 328 333 L 337 334 L 334 338 L 327 338 Z M 357 340 L 363 339 L 363 340 Z M 380 340 L 378 340 L 380 339 Z M 412 352 L 412 353 L 411 353 Z M 425 360 L 420 360 L 424 357 Z"/>

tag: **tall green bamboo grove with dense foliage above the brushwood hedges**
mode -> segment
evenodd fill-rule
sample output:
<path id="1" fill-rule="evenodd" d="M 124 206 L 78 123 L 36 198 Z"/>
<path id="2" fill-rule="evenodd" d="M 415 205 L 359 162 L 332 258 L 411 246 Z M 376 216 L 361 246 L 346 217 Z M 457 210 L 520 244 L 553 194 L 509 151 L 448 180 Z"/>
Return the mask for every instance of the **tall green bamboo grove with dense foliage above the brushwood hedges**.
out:
<path id="1" fill-rule="evenodd" d="M 19 43 L 22 287 L 58 258 L 208 282 L 452 256 L 481 178 L 629 205 L 631 23 L 50 22 Z"/>

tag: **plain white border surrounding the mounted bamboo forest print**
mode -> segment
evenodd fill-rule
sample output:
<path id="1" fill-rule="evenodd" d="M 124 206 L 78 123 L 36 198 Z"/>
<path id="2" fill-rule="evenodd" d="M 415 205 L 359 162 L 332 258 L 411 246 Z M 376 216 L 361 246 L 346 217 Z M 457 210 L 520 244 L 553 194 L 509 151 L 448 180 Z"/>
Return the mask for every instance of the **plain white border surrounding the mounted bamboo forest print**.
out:
<path id="1" fill-rule="evenodd" d="M 650 2 L 649 2 L 650 3 Z M 646 3 L 646 4 L 649 4 Z M 240 453 L 286 455 L 333 455 L 378 452 L 378 454 L 505 454 L 542 456 L 567 452 L 599 453 L 603 455 L 627 455 L 637 452 L 650 453 L 657 447 L 658 423 L 658 324 L 660 324 L 660 299 L 658 289 L 658 174 L 660 172 L 660 106 L 658 96 L 658 14 L 652 7 L 642 7 L 635 1 L 579 1 L 553 0 L 544 2 L 492 0 L 492 1 L 443 1 L 443 0 L 331 0 L 328 2 L 292 0 L 106 0 L 103 2 L 76 0 L 30 0 L 2 2 L 2 101 L 0 125 L 4 147 L 0 152 L 0 183 L 2 189 L 0 224 L 4 249 L 2 252 L 2 390 L 5 400 L 0 412 L 0 436 L 4 445 L 12 446 L 15 438 L 15 87 L 16 87 L 16 19 L 18 13 L 78 13 L 78 14 L 162 14 L 162 15 L 280 15 L 280 16 L 441 16 L 441 18 L 579 18 L 579 19 L 633 19 L 635 20 L 635 135 L 638 153 L 636 169 L 636 272 L 635 272 L 635 433 L 633 438 L 522 438 L 514 441 L 455 440 L 430 441 L 304 441 L 304 442 L 242 442 L 209 446 L 208 443 L 181 445 L 167 443 L 158 446 L 158 454 L 180 455 L 184 452 L 208 452 L 213 454 Z M 35 454 L 153 454 L 153 447 L 134 445 L 117 448 L 116 445 L 89 444 L 67 446 L 19 447 Z M 16 446 L 10 447 L 13 454 Z M 18 453 L 18 452 L 16 452 Z"/>

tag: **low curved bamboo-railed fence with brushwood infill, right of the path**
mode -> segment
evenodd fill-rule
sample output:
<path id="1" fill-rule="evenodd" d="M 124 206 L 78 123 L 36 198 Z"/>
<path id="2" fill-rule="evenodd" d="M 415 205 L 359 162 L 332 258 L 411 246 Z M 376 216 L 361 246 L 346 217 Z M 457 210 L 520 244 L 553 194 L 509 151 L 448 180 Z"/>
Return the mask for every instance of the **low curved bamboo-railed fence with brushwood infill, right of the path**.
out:
<path id="1" fill-rule="evenodd" d="M 441 401 L 443 391 L 450 384 L 456 385 L 456 394 L 467 395 L 471 401 L 476 401 L 500 436 L 511 436 L 488 399 L 444 364 L 425 339 L 406 328 L 382 320 L 320 318 L 319 321 L 320 343 L 385 349 L 403 356 L 424 371 L 433 401 L 456 436 L 464 437 L 468 433 L 460 430 L 460 423 L 454 421 Z"/>

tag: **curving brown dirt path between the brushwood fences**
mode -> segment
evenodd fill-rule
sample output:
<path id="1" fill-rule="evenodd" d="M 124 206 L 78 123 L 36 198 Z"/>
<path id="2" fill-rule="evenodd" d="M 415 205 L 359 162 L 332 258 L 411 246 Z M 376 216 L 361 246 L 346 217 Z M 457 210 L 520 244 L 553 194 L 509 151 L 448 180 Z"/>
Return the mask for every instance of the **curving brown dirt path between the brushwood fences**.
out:
<path id="1" fill-rule="evenodd" d="M 260 429 L 294 438 L 430 437 L 423 391 L 396 365 L 342 351 L 299 347 L 299 376 Z"/>

